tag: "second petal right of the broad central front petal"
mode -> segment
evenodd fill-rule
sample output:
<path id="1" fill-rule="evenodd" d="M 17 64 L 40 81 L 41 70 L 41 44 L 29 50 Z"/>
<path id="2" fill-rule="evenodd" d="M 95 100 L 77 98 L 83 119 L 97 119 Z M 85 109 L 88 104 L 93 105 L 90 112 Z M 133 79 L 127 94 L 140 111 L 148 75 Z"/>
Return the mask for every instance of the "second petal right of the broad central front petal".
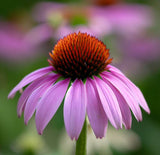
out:
<path id="1" fill-rule="evenodd" d="M 94 78 L 103 109 L 108 119 L 116 129 L 122 128 L 122 114 L 115 94 L 103 80 L 97 77 Z"/>

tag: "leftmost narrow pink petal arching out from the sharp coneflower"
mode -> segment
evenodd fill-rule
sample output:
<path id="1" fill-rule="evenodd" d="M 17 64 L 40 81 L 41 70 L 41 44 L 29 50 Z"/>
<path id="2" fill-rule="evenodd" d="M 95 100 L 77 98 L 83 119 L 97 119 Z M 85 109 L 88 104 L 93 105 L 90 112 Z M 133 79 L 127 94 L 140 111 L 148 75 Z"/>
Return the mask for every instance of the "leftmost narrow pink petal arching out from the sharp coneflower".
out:
<path id="1" fill-rule="evenodd" d="M 28 74 L 27 76 L 25 76 L 18 85 L 16 85 L 12 91 L 9 93 L 8 98 L 13 98 L 14 95 L 16 94 L 16 92 L 18 90 L 20 90 L 21 88 L 23 88 L 24 86 L 26 86 L 27 84 L 31 83 L 32 81 L 46 75 L 47 73 L 53 71 L 53 67 L 49 66 L 49 67 L 44 67 L 41 69 L 38 69 L 30 74 Z"/>

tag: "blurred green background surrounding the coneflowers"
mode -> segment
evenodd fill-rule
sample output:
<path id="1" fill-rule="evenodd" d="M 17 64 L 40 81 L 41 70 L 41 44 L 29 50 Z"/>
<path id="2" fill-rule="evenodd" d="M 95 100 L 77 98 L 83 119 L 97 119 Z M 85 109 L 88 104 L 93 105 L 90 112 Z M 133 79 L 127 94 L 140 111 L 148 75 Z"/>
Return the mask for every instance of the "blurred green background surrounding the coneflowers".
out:
<path id="1" fill-rule="evenodd" d="M 42 2 L 40 0 L 5 0 L 0 2 L 0 21 L 9 21 L 18 23 L 20 26 L 25 24 L 32 27 L 36 25 L 31 17 L 33 7 Z M 50 2 L 53 2 L 50 0 Z M 55 1 L 54 1 L 55 2 Z M 90 5 L 91 2 L 81 0 L 59 0 L 68 4 Z M 137 5 L 147 5 L 152 8 L 155 14 L 155 23 L 148 30 L 149 35 L 156 36 L 159 39 L 159 0 L 126 0 L 122 3 Z M 113 4 L 114 5 L 114 4 Z M 25 26 L 26 26 L 25 25 Z M 152 33 L 152 34 L 151 34 Z M 1 35 L 1 34 L 0 34 Z M 105 36 L 102 40 L 108 43 L 111 49 L 111 55 L 121 54 L 116 52 L 114 41 L 116 35 Z M 7 96 L 10 90 L 28 73 L 48 65 L 48 53 L 54 47 L 57 39 L 48 39 L 42 51 L 37 55 L 24 58 L 24 61 L 14 61 L 11 59 L 0 58 L 0 155 L 63 155 L 74 154 L 75 144 L 67 136 L 63 122 L 63 106 L 61 106 L 52 121 L 49 123 L 42 136 L 36 132 L 34 117 L 28 126 L 24 125 L 23 116 L 17 117 L 17 102 L 20 96 L 16 94 L 14 99 L 8 100 Z M 160 44 L 160 43 L 159 43 Z M 8 43 L 10 46 L 10 43 Z M 125 49 L 125 48 L 123 48 Z M 160 49 L 156 49 L 160 53 Z M 113 52 L 113 54 L 112 54 Z M 153 52 L 151 50 L 151 52 Z M 13 54 L 13 53 L 12 53 Z M 9 55 L 9 53 L 8 53 Z M 149 56 L 148 56 L 149 57 Z M 114 60 L 114 59 L 113 59 Z M 116 59 L 118 60 L 118 58 Z M 115 60 L 115 61 L 116 61 Z M 88 149 L 89 154 L 95 155 L 159 155 L 160 154 L 160 63 L 159 55 L 152 61 L 142 62 L 144 68 L 140 71 L 127 70 L 128 65 L 123 68 L 130 79 L 142 90 L 146 101 L 150 107 L 151 114 L 148 115 L 143 110 L 143 121 L 138 123 L 133 117 L 132 129 L 129 131 L 118 131 L 109 126 L 106 138 L 103 144 L 101 140 L 96 140 L 93 133 L 89 130 Z M 123 59 L 118 63 L 123 64 Z M 127 62 L 126 62 L 127 63 Z M 115 64 L 117 64 L 115 62 Z M 136 61 L 135 61 L 136 64 Z M 141 64 L 140 64 L 141 65 Z M 144 70 L 147 69 L 147 74 Z M 144 73 L 143 73 L 144 72 Z M 140 78 L 139 75 L 140 73 Z M 144 75 L 144 76 L 142 76 Z M 89 143 L 93 144 L 90 145 Z M 94 147 L 95 146 L 95 147 Z M 96 147 L 97 146 L 97 147 Z M 95 150 L 94 150 L 95 149 Z M 92 151 L 93 152 L 92 152 Z"/>

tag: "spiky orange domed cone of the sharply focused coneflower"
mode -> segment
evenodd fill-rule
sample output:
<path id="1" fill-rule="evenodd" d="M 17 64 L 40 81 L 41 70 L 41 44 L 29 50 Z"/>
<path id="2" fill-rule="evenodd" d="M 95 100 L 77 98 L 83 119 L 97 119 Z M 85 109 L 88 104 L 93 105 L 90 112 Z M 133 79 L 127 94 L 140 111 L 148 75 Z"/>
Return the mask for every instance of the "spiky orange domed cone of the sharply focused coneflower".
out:
<path id="1" fill-rule="evenodd" d="M 56 71 L 72 80 L 98 75 L 112 61 L 103 42 L 80 32 L 60 39 L 50 56 L 49 63 Z"/>

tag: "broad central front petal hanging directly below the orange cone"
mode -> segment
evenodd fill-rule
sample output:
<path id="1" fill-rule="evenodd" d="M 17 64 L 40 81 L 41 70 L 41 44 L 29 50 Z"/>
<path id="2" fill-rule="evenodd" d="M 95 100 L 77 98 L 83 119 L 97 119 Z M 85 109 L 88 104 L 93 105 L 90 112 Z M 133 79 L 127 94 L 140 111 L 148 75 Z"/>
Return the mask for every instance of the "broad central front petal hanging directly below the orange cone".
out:
<path id="1" fill-rule="evenodd" d="M 64 101 L 64 122 L 71 139 L 78 139 L 86 113 L 86 90 L 81 80 L 75 80 Z"/>

